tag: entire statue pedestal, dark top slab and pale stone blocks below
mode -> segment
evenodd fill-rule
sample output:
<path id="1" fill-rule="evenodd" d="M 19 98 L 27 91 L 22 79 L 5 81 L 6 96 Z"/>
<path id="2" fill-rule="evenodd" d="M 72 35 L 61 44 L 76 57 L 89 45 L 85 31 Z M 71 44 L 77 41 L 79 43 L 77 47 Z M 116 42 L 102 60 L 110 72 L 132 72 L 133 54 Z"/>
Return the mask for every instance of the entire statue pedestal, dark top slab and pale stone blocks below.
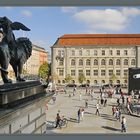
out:
<path id="1" fill-rule="evenodd" d="M 46 131 L 47 93 L 39 81 L 0 86 L 0 134 L 30 134 Z"/>

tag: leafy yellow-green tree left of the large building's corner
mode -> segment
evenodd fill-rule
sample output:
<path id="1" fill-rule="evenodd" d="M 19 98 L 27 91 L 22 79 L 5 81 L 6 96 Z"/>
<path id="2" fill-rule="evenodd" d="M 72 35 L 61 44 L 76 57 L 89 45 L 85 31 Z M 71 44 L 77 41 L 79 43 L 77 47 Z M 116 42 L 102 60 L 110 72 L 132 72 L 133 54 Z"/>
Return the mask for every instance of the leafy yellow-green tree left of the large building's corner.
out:
<path id="1" fill-rule="evenodd" d="M 40 67 L 39 67 L 39 76 L 43 79 L 46 79 L 49 77 L 50 75 L 50 72 L 51 71 L 51 68 L 50 68 L 50 64 L 48 64 L 47 62 L 45 62 L 44 64 L 42 64 Z"/>

